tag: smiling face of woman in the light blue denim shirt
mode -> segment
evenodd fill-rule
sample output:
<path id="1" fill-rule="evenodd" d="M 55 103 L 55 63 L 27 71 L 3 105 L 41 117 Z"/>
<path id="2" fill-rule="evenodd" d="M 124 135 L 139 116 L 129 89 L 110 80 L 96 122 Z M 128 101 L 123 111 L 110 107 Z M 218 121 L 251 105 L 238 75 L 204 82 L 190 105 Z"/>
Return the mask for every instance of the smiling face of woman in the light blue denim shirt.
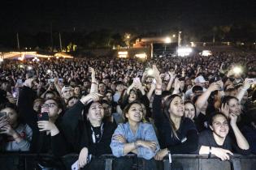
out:
<path id="1" fill-rule="evenodd" d="M 132 104 L 128 110 L 128 113 L 125 113 L 125 117 L 128 118 L 128 121 L 140 122 L 143 118 L 141 104 Z"/>

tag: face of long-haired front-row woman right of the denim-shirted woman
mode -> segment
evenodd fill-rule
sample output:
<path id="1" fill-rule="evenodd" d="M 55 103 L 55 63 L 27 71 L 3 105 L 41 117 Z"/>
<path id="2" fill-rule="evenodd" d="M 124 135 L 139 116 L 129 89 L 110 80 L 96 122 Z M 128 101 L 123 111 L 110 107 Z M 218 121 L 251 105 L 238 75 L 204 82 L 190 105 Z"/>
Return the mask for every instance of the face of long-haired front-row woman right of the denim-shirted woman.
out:
<path id="1" fill-rule="evenodd" d="M 169 113 L 170 116 L 174 116 L 174 117 L 182 117 L 184 115 L 184 103 L 183 100 L 179 97 L 176 96 L 170 104 L 169 107 Z"/>

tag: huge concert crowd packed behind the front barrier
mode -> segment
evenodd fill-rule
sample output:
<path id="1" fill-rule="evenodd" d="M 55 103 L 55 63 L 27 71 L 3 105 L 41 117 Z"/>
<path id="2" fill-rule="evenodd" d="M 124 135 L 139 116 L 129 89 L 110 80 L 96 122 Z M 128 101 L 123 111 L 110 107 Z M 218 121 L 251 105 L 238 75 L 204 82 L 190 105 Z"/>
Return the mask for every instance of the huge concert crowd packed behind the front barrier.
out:
<path id="1" fill-rule="evenodd" d="M 256 154 L 256 55 L 74 58 L 0 64 L 0 148 L 49 153 L 41 169 L 76 153 L 78 168 L 104 169 L 100 155 L 146 169 L 172 154 L 228 160 Z"/>

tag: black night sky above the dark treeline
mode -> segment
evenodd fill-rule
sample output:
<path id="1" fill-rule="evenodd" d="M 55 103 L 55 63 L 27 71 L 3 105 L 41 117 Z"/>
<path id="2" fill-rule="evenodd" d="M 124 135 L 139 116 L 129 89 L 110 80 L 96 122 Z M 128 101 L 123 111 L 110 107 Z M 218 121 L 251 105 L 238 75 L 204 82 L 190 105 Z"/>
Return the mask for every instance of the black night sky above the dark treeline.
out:
<path id="1" fill-rule="evenodd" d="M 0 32 L 54 30 L 118 32 L 203 28 L 256 21 L 255 0 L 33 0 L 1 1 Z"/>

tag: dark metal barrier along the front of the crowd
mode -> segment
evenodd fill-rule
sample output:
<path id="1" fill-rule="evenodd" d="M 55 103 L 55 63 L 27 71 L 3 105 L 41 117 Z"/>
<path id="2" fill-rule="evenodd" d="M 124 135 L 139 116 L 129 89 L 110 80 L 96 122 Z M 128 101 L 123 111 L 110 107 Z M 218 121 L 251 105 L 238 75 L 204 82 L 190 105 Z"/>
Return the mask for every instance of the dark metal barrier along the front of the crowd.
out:
<path id="1" fill-rule="evenodd" d="M 38 158 L 53 158 L 52 155 L 37 155 L 27 153 L 7 153 L 0 155 L 0 170 L 37 170 Z M 162 170 L 253 170 L 256 169 L 256 155 L 232 155 L 229 161 L 221 161 L 213 157 L 208 159 L 207 155 L 171 155 L 172 163 L 166 157 L 163 161 L 156 161 L 158 169 Z M 54 161 L 61 164 L 61 170 L 71 169 L 71 166 L 78 159 L 78 155 L 65 155 L 62 159 Z M 132 169 L 145 169 L 145 159 L 137 158 L 137 155 L 127 155 L 127 160 L 133 160 Z M 115 170 L 113 165 L 118 159 L 113 155 L 102 155 L 97 158 L 102 164 L 102 170 Z M 56 163 L 55 162 L 55 163 Z M 85 168 L 86 169 L 86 168 Z M 96 170 L 96 169 L 95 169 Z M 99 169 L 97 169 L 99 170 Z M 146 169 L 145 169 L 146 170 Z"/>

